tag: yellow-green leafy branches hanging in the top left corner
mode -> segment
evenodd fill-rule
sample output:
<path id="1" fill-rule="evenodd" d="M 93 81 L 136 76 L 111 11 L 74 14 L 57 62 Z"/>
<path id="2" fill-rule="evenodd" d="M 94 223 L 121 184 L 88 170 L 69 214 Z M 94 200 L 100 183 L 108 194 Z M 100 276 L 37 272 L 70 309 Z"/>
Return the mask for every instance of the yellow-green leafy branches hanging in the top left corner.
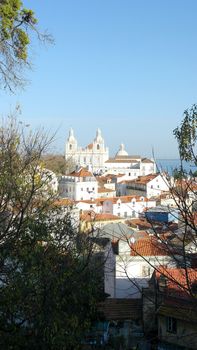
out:
<path id="1" fill-rule="evenodd" d="M 39 40 L 51 41 L 47 34 L 38 30 L 38 21 L 31 9 L 20 0 L 0 0 L 0 83 L 13 91 L 23 86 L 23 70 L 29 67 L 28 48 L 31 34 Z"/>

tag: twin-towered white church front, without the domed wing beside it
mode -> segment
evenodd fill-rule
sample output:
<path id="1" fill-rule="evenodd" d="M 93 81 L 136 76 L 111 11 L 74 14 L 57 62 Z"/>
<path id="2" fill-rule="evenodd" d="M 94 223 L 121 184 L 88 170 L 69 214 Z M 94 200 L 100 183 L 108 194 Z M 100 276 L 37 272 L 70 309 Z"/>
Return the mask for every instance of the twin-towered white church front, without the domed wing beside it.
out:
<path id="1" fill-rule="evenodd" d="M 109 158 L 109 150 L 105 147 L 100 129 L 96 137 L 87 147 L 78 146 L 73 129 L 70 129 L 65 146 L 65 160 L 72 160 L 77 166 L 88 167 L 92 172 L 100 172 L 105 168 L 105 162 Z"/>

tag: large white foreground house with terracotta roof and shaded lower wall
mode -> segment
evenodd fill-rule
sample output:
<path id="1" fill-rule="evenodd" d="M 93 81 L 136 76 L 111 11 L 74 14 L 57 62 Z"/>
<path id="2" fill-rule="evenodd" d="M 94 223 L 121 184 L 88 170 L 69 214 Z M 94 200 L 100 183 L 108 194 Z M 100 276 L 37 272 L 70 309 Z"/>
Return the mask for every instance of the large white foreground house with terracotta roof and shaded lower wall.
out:
<path id="1" fill-rule="evenodd" d="M 134 243 L 121 239 L 116 256 L 115 297 L 140 298 L 142 288 L 148 287 L 154 268 L 175 266 L 174 261 L 165 244 L 152 236 Z"/>

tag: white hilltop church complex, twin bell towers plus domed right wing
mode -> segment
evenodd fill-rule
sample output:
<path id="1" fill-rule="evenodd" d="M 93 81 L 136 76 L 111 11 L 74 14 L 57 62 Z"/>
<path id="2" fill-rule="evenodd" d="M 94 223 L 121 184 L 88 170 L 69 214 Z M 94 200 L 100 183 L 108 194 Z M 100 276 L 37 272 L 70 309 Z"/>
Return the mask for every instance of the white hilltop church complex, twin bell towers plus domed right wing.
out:
<path id="1" fill-rule="evenodd" d="M 65 146 L 65 160 L 72 160 L 77 167 L 87 167 L 97 174 L 124 174 L 124 180 L 135 179 L 156 171 L 153 159 L 128 155 L 123 144 L 120 145 L 115 157 L 110 158 L 109 149 L 105 147 L 100 129 L 97 129 L 93 142 L 85 148 L 78 146 L 73 129 L 70 129 Z"/>

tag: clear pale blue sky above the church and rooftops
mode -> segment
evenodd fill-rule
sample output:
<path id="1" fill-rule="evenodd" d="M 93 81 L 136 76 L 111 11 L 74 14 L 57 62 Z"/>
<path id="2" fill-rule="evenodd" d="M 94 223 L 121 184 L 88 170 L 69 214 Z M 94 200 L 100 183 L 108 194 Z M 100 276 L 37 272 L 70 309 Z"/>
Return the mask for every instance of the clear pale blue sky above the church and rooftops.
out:
<path id="1" fill-rule="evenodd" d="M 197 103 L 196 0 L 24 1 L 55 44 L 33 42 L 30 84 L 0 91 L 1 115 L 57 131 L 64 152 L 72 126 L 81 146 L 101 128 L 113 155 L 177 157 L 172 130 Z"/>

